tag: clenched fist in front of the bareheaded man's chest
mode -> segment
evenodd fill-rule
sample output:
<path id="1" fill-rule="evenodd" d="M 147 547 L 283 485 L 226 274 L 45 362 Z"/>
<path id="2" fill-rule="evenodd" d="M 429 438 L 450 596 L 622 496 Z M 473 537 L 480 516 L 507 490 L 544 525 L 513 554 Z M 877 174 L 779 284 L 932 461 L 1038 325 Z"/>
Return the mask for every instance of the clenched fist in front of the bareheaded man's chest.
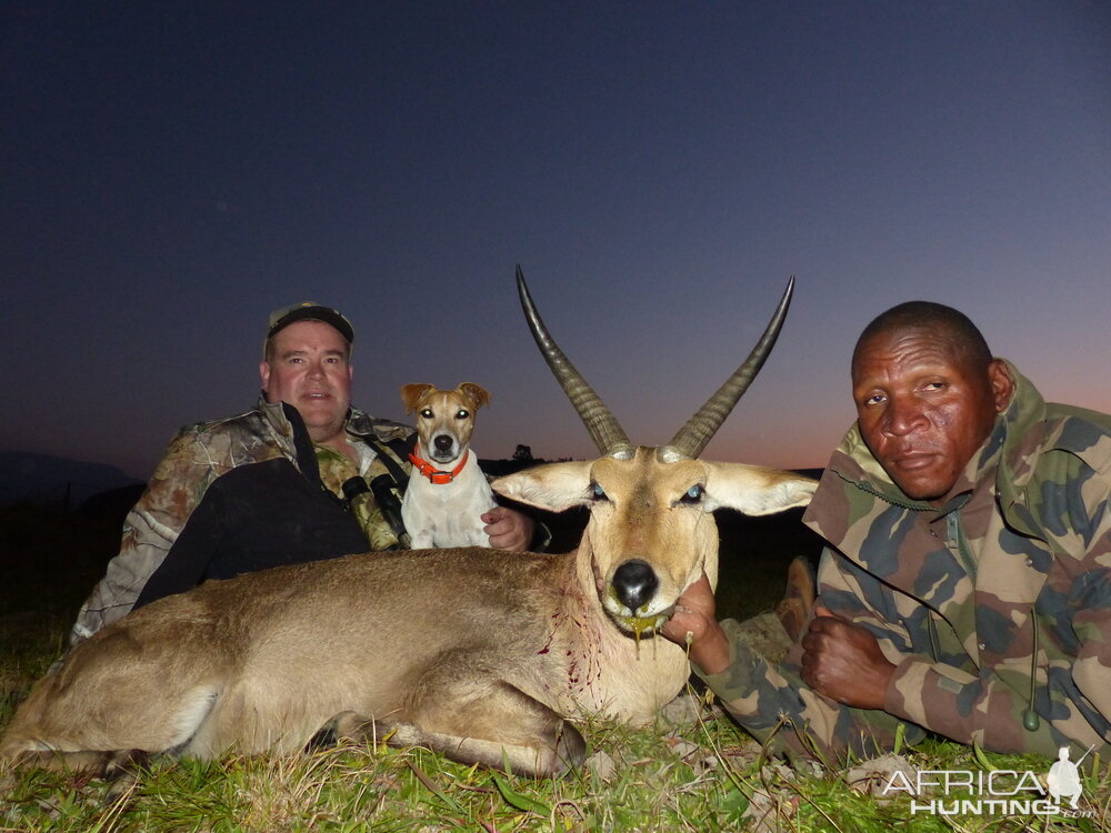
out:
<path id="1" fill-rule="evenodd" d="M 875 638 L 818 605 L 802 638 L 802 682 L 839 703 L 882 709 L 895 666 Z"/>

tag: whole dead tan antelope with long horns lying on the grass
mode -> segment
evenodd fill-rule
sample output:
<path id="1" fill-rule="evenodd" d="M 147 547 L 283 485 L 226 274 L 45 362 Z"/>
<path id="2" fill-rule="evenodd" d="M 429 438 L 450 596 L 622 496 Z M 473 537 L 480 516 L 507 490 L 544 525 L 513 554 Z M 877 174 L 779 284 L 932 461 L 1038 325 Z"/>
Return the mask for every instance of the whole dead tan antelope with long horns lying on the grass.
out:
<path id="1" fill-rule="evenodd" d="M 327 730 L 550 775 L 584 759 L 569 719 L 651 721 L 690 672 L 654 629 L 703 571 L 717 581 L 710 513 L 778 512 L 813 491 L 787 472 L 697 459 L 767 358 L 791 285 L 744 363 L 661 448 L 629 442 L 552 341 L 520 270 L 518 289 L 601 456 L 494 488 L 557 511 L 590 506 L 577 551 L 362 554 L 208 582 L 78 645 L 20 706 L 0 759 L 106 773 L 141 754 L 293 752 Z"/>

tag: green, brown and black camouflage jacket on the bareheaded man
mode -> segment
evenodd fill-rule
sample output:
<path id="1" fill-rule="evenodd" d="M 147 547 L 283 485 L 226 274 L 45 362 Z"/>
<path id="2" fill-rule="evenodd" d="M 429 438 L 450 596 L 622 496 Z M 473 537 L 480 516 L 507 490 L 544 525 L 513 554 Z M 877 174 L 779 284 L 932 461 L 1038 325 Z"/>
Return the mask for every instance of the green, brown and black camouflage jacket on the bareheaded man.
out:
<path id="1" fill-rule="evenodd" d="M 774 669 L 733 646 L 739 668 L 707 679 L 758 736 L 785 717 L 867 752 L 907 721 L 912 739 L 1111 753 L 1111 416 L 1047 404 L 1008 368 L 1014 397 L 940 510 L 908 500 L 857 426 L 834 451 L 803 518 L 830 544 L 821 601 L 895 672 L 883 711 L 863 711 L 807 689 L 799 646 Z"/>

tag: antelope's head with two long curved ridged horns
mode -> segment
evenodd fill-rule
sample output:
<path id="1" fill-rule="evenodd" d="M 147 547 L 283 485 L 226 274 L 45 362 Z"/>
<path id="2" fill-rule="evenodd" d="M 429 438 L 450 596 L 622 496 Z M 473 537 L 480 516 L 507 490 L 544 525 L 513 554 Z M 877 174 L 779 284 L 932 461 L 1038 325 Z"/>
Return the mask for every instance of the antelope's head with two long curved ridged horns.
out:
<path id="1" fill-rule="evenodd" d="M 755 378 L 779 335 L 794 279 L 748 359 L 667 445 L 633 446 L 593 389 L 552 340 L 520 267 L 517 288 L 529 328 L 601 456 L 538 465 L 493 482 L 508 498 L 561 512 L 590 508 L 579 546 L 580 579 L 623 631 L 654 632 L 702 572 L 717 583 L 718 528 L 710 514 L 730 508 L 751 515 L 810 502 L 817 483 L 789 472 L 699 460 Z"/>

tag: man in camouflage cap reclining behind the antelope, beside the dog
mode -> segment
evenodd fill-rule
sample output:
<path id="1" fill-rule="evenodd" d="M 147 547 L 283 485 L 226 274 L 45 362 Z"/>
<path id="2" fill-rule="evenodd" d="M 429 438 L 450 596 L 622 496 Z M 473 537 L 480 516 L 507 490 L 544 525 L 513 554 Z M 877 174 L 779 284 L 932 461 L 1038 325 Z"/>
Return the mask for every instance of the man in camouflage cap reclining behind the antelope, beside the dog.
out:
<path id="1" fill-rule="evenodd" d="M 351 322 L 328 307 L 270 315 L 259 403 L 173 439 L 72 644 L 207 579 L 406 543 L 400 515 L 381 504 L 403 488 L 413 430 L 351 407 L 353 341 Z M 482 520 L 491 546 L 523 550 L 532 539 L 519 512 L 496 506 Z"/>

